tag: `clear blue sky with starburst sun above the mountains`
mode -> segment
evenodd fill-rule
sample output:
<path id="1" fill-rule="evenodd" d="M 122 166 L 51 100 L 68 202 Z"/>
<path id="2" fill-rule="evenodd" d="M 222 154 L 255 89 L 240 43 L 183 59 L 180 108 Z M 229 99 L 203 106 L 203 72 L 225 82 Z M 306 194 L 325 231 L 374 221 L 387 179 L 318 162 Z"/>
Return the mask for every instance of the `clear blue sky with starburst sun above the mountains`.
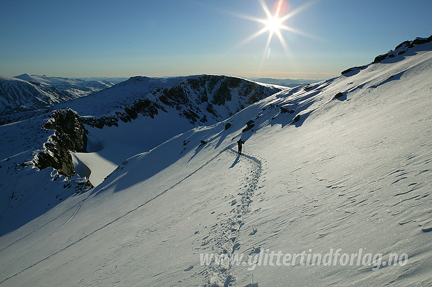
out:
<path id="1" fill-rule="evenodd" d="M 0 75 L 328 79 L 432 34 L 431 0 L 279 1 L 0 0 Z"/>

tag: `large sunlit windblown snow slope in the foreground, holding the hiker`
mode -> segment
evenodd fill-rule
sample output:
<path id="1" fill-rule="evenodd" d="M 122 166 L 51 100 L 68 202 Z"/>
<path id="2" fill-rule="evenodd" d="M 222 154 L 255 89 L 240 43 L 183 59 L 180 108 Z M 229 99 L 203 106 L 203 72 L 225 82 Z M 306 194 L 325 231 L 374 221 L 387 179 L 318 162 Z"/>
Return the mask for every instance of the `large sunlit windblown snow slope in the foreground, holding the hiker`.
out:
<path id="1" fill-rule="evenodd" d="M 125 158 L 0 238 L 0 285 L 432 285 L 431 50 L 279 92 Z M 132 126 L 119 128 L 135 138 Z M 112 131 L 90 130 L 90 146 L 115 146 Z M 206 254 L 244 257 L 206 264 Z"/>

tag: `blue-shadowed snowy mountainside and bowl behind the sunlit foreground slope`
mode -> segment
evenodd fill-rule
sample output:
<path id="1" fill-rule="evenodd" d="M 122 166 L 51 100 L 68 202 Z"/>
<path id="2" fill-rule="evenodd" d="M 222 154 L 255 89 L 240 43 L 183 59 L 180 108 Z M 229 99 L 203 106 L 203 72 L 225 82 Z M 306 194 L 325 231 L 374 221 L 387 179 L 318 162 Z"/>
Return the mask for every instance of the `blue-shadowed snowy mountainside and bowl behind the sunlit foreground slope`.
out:
<path id="1" fill-rule="evenodd" d="M 203 86 L 200 86 L 201 83 Z M 195 89 L 201 90 L 203 93 L 201 97 L 191 87 L 192 84 L 195 84 L 193 85 Z M 224 87 L 227 88 L 224 89 Z M 280 87 L 259 85 L 255 82 L 225 76 L 192 76 L 171 79 L 132 78 L 130 81 L 120 83 L 104 92 L 54 105 L 54 109 L 64 109 L 57 110 L 60 113 L 49 109 L 38 111 L 38 113 L 32 112 L 31 116 L 24 117 L 19 122 L 0 126 L 0 131 L 3 131 L 5 135 L 0 138 L 2 143 L 0 150 L 5 153 L 5 155 L 2 153 L 2 159 L 4 166 L 7 167 L 3 169 L 4 173 L 0 178 L 5 178 L 5 181 L 10 182 L 9 178 L 13 177 L 12 170 L 25 162 L 24 166 L 57 168 L 57 171 L 52 172 L 53 178 L 56 178 L 55 174 L 71 176 L 71 172 L 75 169 L 79 175 L 89 178 L 90 183 L 97 186 L 125 159 L 153 149 L 179 132 L 188 131 L 199 125 L 200 122 L 193 121 L 194 114 L 197 116 L 200 114 L 203 119 L 205 119 L 205 115 L 208 115 L 210 121 L 216 122 L 212 117 L 223 118 L 215 111 L 225 115 L 226 118 L 229 113 L 238 110 L 242 104 L 246 105 L 250 101 L 256 101 L 280 90 L 282 90 Z M 131 91 L 134 91 L 134 97 L 129 96 Z M 177 91 L 184 92 L 177 97 Z M 159 94 L 157 94 L 158 92 Z M 158 97 L 155 97 L 153 93 L 157 94 Z M 204 109 L 205 114 L 203 116 L 203 112 L 199 111 L 199 105 L 201 107 L 213 106 L 210 101 L 213 102 L 215 98 L 224 98 L 220 95 L 225 96 L 225 104 L 214 103 L 214 109 L 210 110 L 212 113 Z M 202 101 L 204 96 L 209 97 L 205 103 Z M 60 117 L 60 123 L 54 125 L 60 127 L 56 133 L 51 130 L 48 137 L 40 137 L 40 133 L 46 132 L 44 127 L 52 129 L 53 125 L 47 126 L 46 123 L 55 123 L 53 118 L 58 119 L 58 117 L 53 117 L 53 114 L 65 114 L 64 111 L 70 111 L 69 108 L 65 109 L 68 106 L 84 115 L 82 121 L 89 124 L 100 121 L 102 125 L 87 126 L 90 131 L 86 136 L 87 139 L 79 138 L 86 131 L 79 127 L 81 124 L 77 122 L 72 115 L 73 113 L 68 112 L 69 116 Z M 91 112 L 92 110 L 94 112 Z M 90 113 L 94 116 L 87 116 Z M 27 115 L 30 113 L 26 113 L 24 116 Z M 107 125 L 111 125 L 110 123 L 113 124 L 108 127 Z M 102 126 L 104 128 L 100 129 Z M 70 130 L 70 132 L 65 133 L 65 130 Z M 116 140 L 113 141 L 112 138 L 116 138 Z M 80 146 L 80 142 L 83 141 L 88 142 L 86 152 L 76 152 L 75 148 L 72 147 L 75 144 Z M 72 154 L 70 159 L 67 154 L 68 150 Z M 18 161 L 8 160 L 11 157 L 8 155 L 9 153 L 12 156 L 19 155 L 16 157 Z M 31 172 L 35 172 L 35 170 L 31 170 Z M 2 169 L 0 169 L 1 171 Z M 28 177 L 29 175 L 22 175 L 18 172 L 17 176 Z M 66 179 L 63 178 L 62 181 L 66 181 Z M 83 182 L 85 183 L 86 180 Z M 23 184 L 25 186 L 28 183 Z M 65 184 L 65 186 L 68 189 L 71 188 L 71 185 Z M 11 187 L 13 186 L 5 185 L 1 190 L 0 194 L 5 204 L 9 201 L 12 193 Z M 0 188 L 2 188 L 1 185 Z M 24 187 L 22 189 L 26 190 Z M 35 190 L 34 187 L 29 189 L 32 190 L 32 194 L 36 193 L 41 197 L 41 203 L 38 208 L 34 209 L 34 212 L 25 214 L 19 214 L 20 208 L 33 208 L 30 201 L 20 203 L 20 208 L 11 209 L 5 205 L 8 212 L 3 217 L 3 221 L 0 221 L 0 226 L 4 227 L 5 233 L 18 228 L 26 223 L 25 220 L 32 220 L 58 203 L 58 200 L 53 202 L 50 197 L 45 197 L 44 191 Z M 60 192 L 63 193 L 63 191 Z M 18 200 L 17 197 L 14 199 Z M 13 206 L 16 207 L 16 205 Z M 18 216 L 21 217 L 20 220 L 10 222 L 10 219 Z"/>

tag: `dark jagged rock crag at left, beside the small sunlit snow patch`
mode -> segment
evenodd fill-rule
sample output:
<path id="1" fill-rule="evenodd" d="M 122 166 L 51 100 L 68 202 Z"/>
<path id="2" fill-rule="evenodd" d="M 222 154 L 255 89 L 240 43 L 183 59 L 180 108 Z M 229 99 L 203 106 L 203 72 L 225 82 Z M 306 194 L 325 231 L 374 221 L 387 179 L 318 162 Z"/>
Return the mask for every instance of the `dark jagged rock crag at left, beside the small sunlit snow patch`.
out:
<path id="1" fill-rule="evenodd" d="M 43 126 L 55 130 L 44 143 L 44 151 L 39 152 L 34 164 L 40 170 L 52 167 L 60 174 L 71 177 L 75 173 L 72 152 L 86 152 L 87 133 L 79 115 L 71 110 L 57 110 Z"/>

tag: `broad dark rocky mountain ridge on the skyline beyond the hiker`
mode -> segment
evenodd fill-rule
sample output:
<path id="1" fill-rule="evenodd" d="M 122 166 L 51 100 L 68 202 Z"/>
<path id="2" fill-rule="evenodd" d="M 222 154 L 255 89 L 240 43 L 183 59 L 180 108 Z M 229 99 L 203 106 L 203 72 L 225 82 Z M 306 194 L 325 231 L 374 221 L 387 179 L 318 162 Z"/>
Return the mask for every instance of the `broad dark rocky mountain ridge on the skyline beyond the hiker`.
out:
<path id="1" fill-rule="evenodd" d="M 226 119 L 246 105 L 283 89 L 285 87 L 217 75 L 138 76 L 84 99 L 57 104 L 54 108 L 68 106 L 82 117 L 88 117 L 87 124 L 99 127 L 115 125 L 118 120 L 131 121 L 139 113 L 153 117 L 173 109 L 175 112 L 172 113 L 179 113 L 191 124 L 204 124 Z"/>

